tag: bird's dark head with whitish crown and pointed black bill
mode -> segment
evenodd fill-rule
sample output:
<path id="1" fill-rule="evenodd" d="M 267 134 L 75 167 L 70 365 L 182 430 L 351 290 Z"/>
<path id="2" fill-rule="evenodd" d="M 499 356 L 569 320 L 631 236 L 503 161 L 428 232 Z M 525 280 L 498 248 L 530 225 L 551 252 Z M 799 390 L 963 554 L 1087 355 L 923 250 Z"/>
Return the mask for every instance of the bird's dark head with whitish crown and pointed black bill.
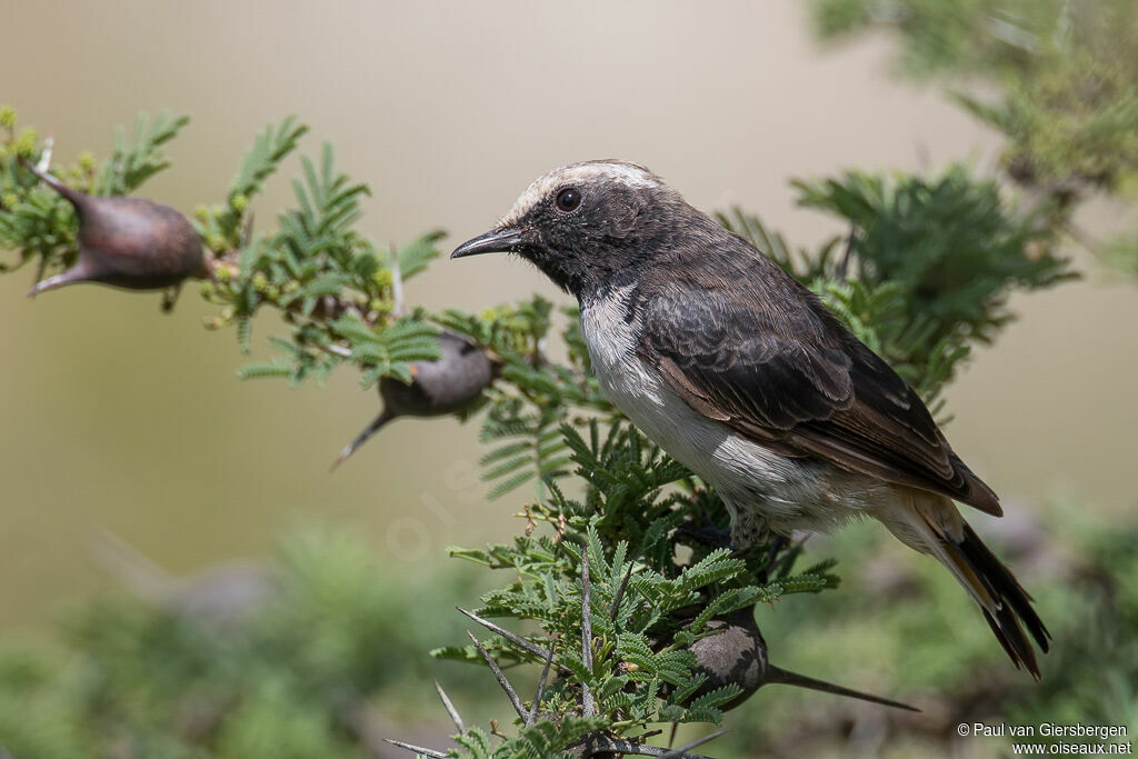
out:
<path id="1" fill-rule="evenodd" d="M 646 168 L 589 160 L 535 180 L 497 226 L 452 258 L 514 253 L 578 298 L 649 259 L 688 206 Z"/>

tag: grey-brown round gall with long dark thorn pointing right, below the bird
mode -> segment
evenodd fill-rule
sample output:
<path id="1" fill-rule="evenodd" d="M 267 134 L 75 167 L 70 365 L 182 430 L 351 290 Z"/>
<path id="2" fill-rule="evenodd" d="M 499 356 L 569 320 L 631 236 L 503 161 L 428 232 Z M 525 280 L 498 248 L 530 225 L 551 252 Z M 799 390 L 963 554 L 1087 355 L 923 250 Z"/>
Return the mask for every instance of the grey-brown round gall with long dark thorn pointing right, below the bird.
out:
<path id="1" fill-rule="evenodd" d="M 699 665 L 695 671 L 707 676 L 707 680 L 696 690 L 692 699 L 734 684 L 743 692 L 723 707 L 725 710 L 734 709 L 764 685 L 781 683 L 871 701 L 897 709 L 917 711 L 917 709 L 897 701 L 851 691 L 840 685 L 775 667 L 767 659 L 767 643 L 762 640 L 762 634 L 754 622 L 751 609 L 742 609 L 725 617 L 717 617 L 708 622 L 708 629 L 716 630 L 716 634 L 700 638 L 688 649 L 695 654 L 695 661 Z"/>

